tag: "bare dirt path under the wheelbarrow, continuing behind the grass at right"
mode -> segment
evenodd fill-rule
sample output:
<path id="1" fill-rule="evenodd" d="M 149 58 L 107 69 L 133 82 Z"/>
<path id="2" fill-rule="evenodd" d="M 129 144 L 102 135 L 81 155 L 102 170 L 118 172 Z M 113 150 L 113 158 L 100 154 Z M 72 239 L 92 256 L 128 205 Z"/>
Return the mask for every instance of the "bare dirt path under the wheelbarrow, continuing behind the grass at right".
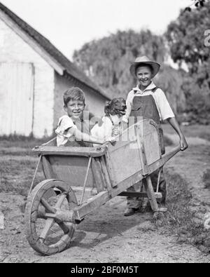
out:
<path id="1" fill-rule="evenodd" d="M 210 193 L 201 180 L 205 168 L 210 168 L 209 152 L 207 144 L 192 144 L 188 151 L 177 154 L 167 164 L 169 170 L 188 180 L 195 208 L 201 215 L 201 207 L 210 207 Z M 0 230 L 1 262 L 210 262 L 210 255 L 176 243 L 175 236 L 160 234 L 151 223 L 151 213 L 124 217 L 123 197 L 113 198 L 78 225 L 71 248 L 42 257 L 25 240 L 22 202 L 22 196 L 0 194 L 1 210 L 6 217 L 6 229 Z"/>

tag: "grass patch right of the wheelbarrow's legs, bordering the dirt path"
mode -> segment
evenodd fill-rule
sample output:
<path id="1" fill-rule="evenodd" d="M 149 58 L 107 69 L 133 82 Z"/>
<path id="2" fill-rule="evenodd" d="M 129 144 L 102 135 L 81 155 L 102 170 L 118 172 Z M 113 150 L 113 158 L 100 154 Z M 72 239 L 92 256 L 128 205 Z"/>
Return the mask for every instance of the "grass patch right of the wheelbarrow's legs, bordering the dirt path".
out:
<path id="1" fill-rule="evenodd" d="M 193 196 L 188 189 L 188 183 L 178 174 L 167 172 L 167 208 L 161 221 L 164 231 L 177 236 L 179 243 L 196 246 L 204 253 L 210 253 L 210 233 L 204 231 L 202 220 L 197 220 L 192 209 Z M 157 218 L 154 223 L 158 226 Z"/>

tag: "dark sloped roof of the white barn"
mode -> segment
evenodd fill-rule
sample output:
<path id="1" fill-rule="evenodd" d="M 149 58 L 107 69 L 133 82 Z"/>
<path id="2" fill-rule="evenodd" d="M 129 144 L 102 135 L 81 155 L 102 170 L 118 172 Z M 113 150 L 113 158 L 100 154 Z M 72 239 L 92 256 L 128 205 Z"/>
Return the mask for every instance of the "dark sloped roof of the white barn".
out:
<path id="1" fill-rule="evenodd" d="M 10 9 L 6 8 L 6 6 L 1 4 L 1 2 L 0 11 L 7 15 L 10 20 L 13 20 L 15 25 L 18 25 L 18 27 L 20 27 L 20 29 L 25 32 L 25 34 L 33 39 L 36 44 L 40 46 L 40 48 L 45 50 L 53 58 L 53 60 L 56 60 L 56 62 L 64 68 L 67 74 L 73 76 L 78 81 L 84 83 L 86 86 L 89 86 L 99 94 L 109 99 L 109 96 L 106 95 L 102 89 L 97 86 L 96 83 L 88 78 L 82 70 L 73 64 L 73 62 L 70 62 L 70 60 L 67 59 L 48 39 L 38 33 L 33 27 L 27 24 L 27 22 L 19 18 L 18 15 L 15 15 L 15 13 L 10 11 Z"/>

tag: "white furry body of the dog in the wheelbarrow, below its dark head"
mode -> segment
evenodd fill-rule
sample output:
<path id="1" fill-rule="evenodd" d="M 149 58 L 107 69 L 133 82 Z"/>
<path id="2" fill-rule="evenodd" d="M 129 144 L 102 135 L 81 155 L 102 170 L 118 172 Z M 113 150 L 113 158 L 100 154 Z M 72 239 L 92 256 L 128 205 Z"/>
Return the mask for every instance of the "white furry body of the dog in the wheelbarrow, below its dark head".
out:
<path id="1" fill-rule="evenodd" d="M 122 117 L 119 118 L 117 115 L 110 115 L 110 117 L 113 123 L 108 116 L 103 116 L 102 122 L 93 126 L 90 131 L 93 137 L 98 137 L 101 140 L 107 141 L 110 137 L 120 135 L 120 122 L 122 121 Z M 93 144 L 93 146 L 96 147 L 98 144 Z"/>

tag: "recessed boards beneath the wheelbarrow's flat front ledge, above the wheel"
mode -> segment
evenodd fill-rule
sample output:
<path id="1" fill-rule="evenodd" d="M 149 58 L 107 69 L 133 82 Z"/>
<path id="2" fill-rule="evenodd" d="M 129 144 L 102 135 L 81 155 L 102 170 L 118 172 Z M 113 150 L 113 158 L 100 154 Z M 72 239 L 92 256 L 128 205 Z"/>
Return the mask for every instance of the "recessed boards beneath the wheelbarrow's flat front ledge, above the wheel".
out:
<path id="1" fill-rule="evenodd" d="M 85 191 L 91 189 L 92 193 L 99 193 L 106 190 L 109 183 L 104 178 L 105 170 L 102 171 L 99 158 L 92 157 L 90 163 L 90 157 L 86 156 L 45 155 L 41 161 L 45 179 L 62 180 L 75 191 L 82 191 L 85 182 Z"/>

